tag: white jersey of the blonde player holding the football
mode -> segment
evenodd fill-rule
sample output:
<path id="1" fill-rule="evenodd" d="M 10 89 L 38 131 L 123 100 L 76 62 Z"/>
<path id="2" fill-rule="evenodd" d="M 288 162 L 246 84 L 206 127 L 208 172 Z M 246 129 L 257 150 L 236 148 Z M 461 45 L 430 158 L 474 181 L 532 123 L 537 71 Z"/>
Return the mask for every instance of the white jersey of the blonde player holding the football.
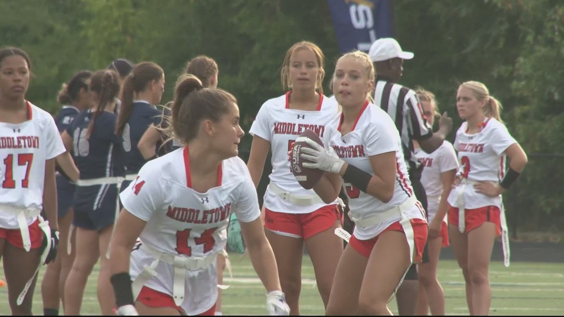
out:
<path id="1" fill-rule="evenodd" d="M 325 130 L 323 144 L 325 144 L 325 147 L 332 147 L 343 161 L 374 175 L 369 156 L 395 152 L 396 157 L 397 171 L 394 196 L 387 203 L 360 191 L 350 183 L 343 183 L 347 196 L 349 196 L 350 214 L 356 218 L 365 218 L 368 215 L 385 212 L 390 208 L 402 205 L 408 197 L 415 195 L 403 158 L 399 133 L 390 116 L 376 105 L 366 102 L 356 119 L 355 126 L 345 135 L 342 135 L 340 131 L 341 120 L 342 114 L 339 114 L 329 122 Z M 407 215 L 410 218 L 425 219 L 425 214 L 417 207 L 407 210 Z M 390 218 L 389 221 L 377 226 L 356 226 L 354 235 L 360 240 L 368 240 L 380 234 L 390 224 L 400 220 L 398 215 L 398 217 Z"/>

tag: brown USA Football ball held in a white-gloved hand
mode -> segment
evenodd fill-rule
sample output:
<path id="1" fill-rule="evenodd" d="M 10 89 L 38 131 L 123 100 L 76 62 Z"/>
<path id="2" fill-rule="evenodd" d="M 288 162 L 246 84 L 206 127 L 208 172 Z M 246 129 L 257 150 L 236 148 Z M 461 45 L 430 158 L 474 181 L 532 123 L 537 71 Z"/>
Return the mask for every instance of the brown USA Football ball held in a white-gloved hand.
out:
<path id="1" fill-rule="evenodd" d="M 296 180 L 303 188 L 305 188 L 306 190 L 311 190 L 311 188 L 313 188 L 315 184 L 319 182 L 319 179 L 321 179 L 321 176 L 323 176 L 324 172 L 319 169 L 309 169 L 303 167 L 303 162 L 309 161 L 304 160 L 300 157 L 302 153 L 300 150 L 302 147 L 311 148 L 311 146 L 305 141 L 300 140 L 303 138 L 310 138 L 320 146 L 323 146 L 323 142 L 321 142 L 321 139 L 317 134 L 315 134 L 313 130 L 306 129 L 296 139 L 296 142 L 294 142 L 294 144 L 292 145 L 292 152 L 290 152 L 290 169 L 292 170 L 294 177 L 296 177 Z"/>

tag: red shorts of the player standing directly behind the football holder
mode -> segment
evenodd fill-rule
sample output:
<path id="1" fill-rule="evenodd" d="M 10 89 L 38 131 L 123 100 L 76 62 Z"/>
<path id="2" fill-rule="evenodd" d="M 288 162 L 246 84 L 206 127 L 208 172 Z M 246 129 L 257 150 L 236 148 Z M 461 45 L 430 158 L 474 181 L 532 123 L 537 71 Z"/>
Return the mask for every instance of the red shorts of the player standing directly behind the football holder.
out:
<path id="1" fill-rule="evenodd" d="M 281 235 L 291 237 L 310 237 L 323 232 L 341 221 L 337 205 L 328 205 L 306 214 L 277 213 L 265 208 L 265 227 Z"/>

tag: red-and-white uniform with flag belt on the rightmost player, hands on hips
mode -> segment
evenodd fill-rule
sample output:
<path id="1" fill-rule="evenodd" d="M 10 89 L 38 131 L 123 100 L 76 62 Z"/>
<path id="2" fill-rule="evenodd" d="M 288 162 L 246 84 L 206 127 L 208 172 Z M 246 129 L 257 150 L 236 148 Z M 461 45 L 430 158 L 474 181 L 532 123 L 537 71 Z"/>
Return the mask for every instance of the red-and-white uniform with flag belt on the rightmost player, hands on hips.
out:
<path id="1" fill-rule="evenodd" d="M 483 209 L 487 208 L 485 221 L 499 223 L 504 265 L 509 266 L 509 234 L 501 195 L 490 197 L 478 193 L 474 190 L 473 184 L 475 182 L 500 182 L 505 173 L 504 152 L 517 141 L 509 134 L 505 125 L 495 118 L 486 118 L 478 133 L 468 134 L 467 129 L 468 123 L 463 122 L 456 132 L 454 146 L 458 151 L 459 174 L 462 175 L 462 182 L 453 188 L 448 196 L 448 203 L 457 209 L 451 208 L 449 218 L 452 215 L 451 219 L 455 219 L 455 214 L 452 213 L 456 211 L 459 231 L 467 232 L 483 223 L 483 217 L 479 217 L 477 213 L 484 213 Z M 490 208 L 496 208 L 496 212 L 499 210 L 499 215 L 491 214 Z M 475 221 L 476 218 L 478 221 Z M 496 234 L 499 234 L 499 230 L 499 227 L 496 228 Z"/>

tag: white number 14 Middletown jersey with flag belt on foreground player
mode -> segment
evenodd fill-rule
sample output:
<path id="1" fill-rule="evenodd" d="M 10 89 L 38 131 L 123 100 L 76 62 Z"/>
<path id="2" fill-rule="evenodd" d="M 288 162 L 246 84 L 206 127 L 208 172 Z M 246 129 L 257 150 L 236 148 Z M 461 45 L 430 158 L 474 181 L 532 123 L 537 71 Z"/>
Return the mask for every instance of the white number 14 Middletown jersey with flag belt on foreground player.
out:
<path id="1" fill-rule="evenodd" d="M 217 300 L 215 259 L 226 246 L 231 213 L 251 222 L 260 210 L 239 157 L 218 166 L 217 187 L 200 193 L 191 184 L 183 147 L 147 162 L 120 198 L 131 214 L 147 221 L 139 236 L 142 245 L 131 253 L 134 297 L 145 286 L 169 294 L 188 315 L 197 315 Z"/>

